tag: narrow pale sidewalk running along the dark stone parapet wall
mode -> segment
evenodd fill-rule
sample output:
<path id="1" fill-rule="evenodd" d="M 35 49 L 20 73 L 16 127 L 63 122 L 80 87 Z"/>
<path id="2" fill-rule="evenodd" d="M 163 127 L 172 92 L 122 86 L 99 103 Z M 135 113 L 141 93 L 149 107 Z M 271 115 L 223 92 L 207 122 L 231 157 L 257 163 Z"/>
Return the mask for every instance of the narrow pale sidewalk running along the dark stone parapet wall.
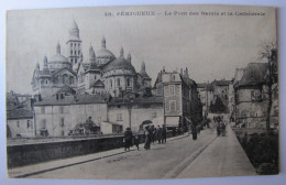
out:
<path id="1" fill-rule="evenodd" d="M 185 135 L 178 135 L 174 138 L 167 139 L 167 141 L 173 141 L 177 140 L 180 138 L 185 138 Z M 140 148 L 143 149 L 144 144 L 140 144 Z M 133 146 L 130 151 L 135 151 L 135 146 Z M 87 154 L 87 155 L 80 155 L 80 156 L 75 156 L 75 157 L 68 157 L 68 159 L 62 159 L 62 160 L 55 160 L 51 162 L 43 162 L 43 163 L 37 163 L 37 164 L 32 164 L 28 166 L 22 166 L 22 167 L 15 167 L 15 168 L 10 168 L 8 170 L 8 175 L 9 177 L 28 177 L 31 175 L 36 175 L 40 173 L 53 171 L 53 170 L 58 170 L 72 165 L 77 165 L 77 164 L 82 164 L 87 163 L 90 161 L 96 161 L 113 155 L 119 155 L 125 153 L 123 148 L 120 149 L 114 149 L 114 150 L 109 150 L 105 152 L 98 152 L 94 154 Z"/>

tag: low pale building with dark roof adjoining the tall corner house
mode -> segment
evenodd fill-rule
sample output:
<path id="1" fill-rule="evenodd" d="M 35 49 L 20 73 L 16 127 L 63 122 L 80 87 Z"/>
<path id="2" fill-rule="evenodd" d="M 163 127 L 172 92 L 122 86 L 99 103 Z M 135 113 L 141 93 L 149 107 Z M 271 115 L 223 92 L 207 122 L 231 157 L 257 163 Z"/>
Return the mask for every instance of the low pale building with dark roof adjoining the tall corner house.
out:
<path id="1" fill-rule="evenodd" d="M 163 118 L 163 97 L 130 94 L 124 98 L 112 98 L 108 104 L 108 121 L 122 126 L 123 130 L 131 128 L 138 132 L 142 130 L 144 121 L 162 127 Z"/>

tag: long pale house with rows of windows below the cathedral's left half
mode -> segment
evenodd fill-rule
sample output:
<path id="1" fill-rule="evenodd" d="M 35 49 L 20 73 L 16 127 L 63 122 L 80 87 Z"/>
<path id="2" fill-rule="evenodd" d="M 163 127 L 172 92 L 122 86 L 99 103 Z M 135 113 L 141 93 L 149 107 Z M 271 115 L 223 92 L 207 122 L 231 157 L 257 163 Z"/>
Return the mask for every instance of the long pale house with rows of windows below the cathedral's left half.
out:
<path id="1" fill-rule="evenodd" d="M 56 96 L 44 97 L 35 102 L 35 135 L 65 137 L 78 124 L 86 123 L 90 117 L 98 127 L 108 120 L 108 96 L 73 96 L 63 91 L 64 89 Z"/>

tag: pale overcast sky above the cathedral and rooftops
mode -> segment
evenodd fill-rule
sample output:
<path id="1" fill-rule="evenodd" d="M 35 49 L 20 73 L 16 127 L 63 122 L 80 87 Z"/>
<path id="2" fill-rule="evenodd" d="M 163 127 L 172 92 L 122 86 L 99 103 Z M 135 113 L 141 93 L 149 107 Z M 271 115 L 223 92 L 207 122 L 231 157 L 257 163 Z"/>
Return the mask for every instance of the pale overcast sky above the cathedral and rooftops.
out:
<path id="1" fill-rule="evenodd" d="M 117 15 L 120 12 L 152 11 L 155 15 Z M 113 15 L 106 17 L 110 12 Z M 186 12 L 176 14 L 175 12 Z M 197 15 L 190 15 L 194 12 Z M 202 15 L 218 12 L 219 15 Z M 224 15 L 232 12 L 263 12 L 265 15 Z M 172 13 L 172 15 L 166 15 Z M 68 30 L 77 22 L 84 62 L 90 44 L 96 53 L 105 35 L 107 48 L 125 56 L 140 72 L 144 61 L 154 84 L 157 73 L 188 67 L 197 83 L 231 79 L 237 67 L 258 59 L 262 45 L 276 41 L 274 9 L 257 7 L 117 7 L 9 11 L 7 17 L 7 91 L 32 94 L 36 63 L 56 53 L 59 42 L 67 56 Z"/>

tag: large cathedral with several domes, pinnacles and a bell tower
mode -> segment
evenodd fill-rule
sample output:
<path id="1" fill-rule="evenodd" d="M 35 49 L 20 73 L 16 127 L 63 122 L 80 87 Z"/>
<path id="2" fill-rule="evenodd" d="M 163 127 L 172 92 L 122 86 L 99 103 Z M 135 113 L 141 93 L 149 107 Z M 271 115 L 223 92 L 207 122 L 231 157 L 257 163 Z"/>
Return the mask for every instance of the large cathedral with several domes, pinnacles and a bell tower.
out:
<path id="1" fill-rule="evenodd" d="M 44 56 L 42 68 L 36 64 L 32 78 L 34 96 L 51 97 L 65 92 L 122 97 L 127 92 L 151 87 L 152 79 L 145 70 L 145 63 L 142 63 L 141 70 L 136 73 L 131 54 L 125 57 L 121 47 L 117 57 L 107 48 L 105 36 L 101 40 L 101 48 L 95 52 L 90 44 L 89 56 L 84 59 L 82 41 L 75 21 L 68 31 L 66 44 L 67 56 L 61 53 L 61 44 L 57 43 L 55 55 Z"/>

